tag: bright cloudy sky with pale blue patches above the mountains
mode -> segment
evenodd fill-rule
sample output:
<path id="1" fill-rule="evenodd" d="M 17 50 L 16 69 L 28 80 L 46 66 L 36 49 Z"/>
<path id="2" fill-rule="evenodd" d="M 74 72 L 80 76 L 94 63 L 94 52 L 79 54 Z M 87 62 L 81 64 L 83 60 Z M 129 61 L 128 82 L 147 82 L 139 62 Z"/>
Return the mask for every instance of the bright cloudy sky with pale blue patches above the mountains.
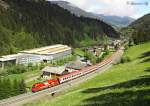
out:
<path id="1" fill-rule="evenodd" d="M 55 1 L 55 0 L 53 0 Z M 150 0 L 64 0 L 68 1 L 79 8 L 94 12 L 97 14 L 130 16 L 139 18 L 144 14 L 150 13 Z M 146 5 L 128 5 L 127 2 L 143 3 Z"/>

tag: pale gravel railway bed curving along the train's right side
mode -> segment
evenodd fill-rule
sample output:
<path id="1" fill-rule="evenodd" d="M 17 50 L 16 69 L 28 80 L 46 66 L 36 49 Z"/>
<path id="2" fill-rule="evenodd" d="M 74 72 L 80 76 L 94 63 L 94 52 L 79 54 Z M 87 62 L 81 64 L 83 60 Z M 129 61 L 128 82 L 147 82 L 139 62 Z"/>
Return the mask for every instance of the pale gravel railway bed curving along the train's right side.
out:
<path id="1" fill-rule="evenodd" d="M 111 63 L 105 65 L 104 67 L 99 68 L 98 70 L 96 70 L 92 73 L 89 73 L 89 74 L 79 77 L 77 79 L 71 80 L 67 83 L 63 83 L 58 86 L 55 86 L 55 87 L 52 87 L 52 88 L 49 88 L 49 89 L 46 89 L 46 90 L 43 90 L 43 91 L 40 91 L 37 93 L 29 92 L 26 94 L 22 94 L 22 95 L 18 95 L 15 97 L 1 100 L 0 106 L 21 106 L 25 103 L 32 102 L 34 100 L 38 100 L 47 95 L 49 95 L 49 96 L 51 96 L 52 94 L 55 94 L 57 96 L 61 95 L 62 92 L 65 92 L 66 90 L 68 90 L 72 87 L 75 87 L 75 86 L 79 85 L 80 83 L 85 82 L 88 79 L 95 77 L 98 73 L 102 73 L 102 72 L 106 71 L 114 63 L 117 63 L 121 59 L 122 54 L 123 54 L 123 50 L 122 49 L 118 50 L 118 52 L 113 57 L 113 60 Z"/>

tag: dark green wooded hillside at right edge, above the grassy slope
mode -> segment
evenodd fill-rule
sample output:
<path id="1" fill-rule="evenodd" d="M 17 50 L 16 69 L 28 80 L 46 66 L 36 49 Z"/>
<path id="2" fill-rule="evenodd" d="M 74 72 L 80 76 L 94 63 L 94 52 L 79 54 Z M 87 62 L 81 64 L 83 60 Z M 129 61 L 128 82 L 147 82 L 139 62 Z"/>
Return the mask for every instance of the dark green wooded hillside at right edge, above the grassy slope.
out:
<path id="1" fill-rule="evenodd" d="M 150 41 L 150 14 L 134 21 L 122 31 L 128 36 L 132 36 L 136 44 Z"/>

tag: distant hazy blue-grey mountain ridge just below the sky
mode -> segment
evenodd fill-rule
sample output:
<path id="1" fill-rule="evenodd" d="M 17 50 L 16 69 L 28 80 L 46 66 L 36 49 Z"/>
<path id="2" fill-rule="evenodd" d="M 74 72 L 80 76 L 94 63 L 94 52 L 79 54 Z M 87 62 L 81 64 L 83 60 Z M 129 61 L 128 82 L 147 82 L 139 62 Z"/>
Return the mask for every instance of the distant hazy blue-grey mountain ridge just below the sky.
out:
<path id="1" fill-rule="evenodd" d="M 130 17 L 109 16 L 103 14 L 95 14 L 92 12 L 86 12 L 80 9 L 79 7 L 66 1 L 51 1 L 51 2 L 59 5 L 64 9 L 67 9 L 68 11 L 70 11 L 72 14 L 75 14 L 76 16 L 84 16 L 84 17 L 103 20 L 104 22 L 113 25 L 115 28 L 126 27 L 127 25 L 129 25 L 131 22 L 134 21 L 134 19 Z"/>

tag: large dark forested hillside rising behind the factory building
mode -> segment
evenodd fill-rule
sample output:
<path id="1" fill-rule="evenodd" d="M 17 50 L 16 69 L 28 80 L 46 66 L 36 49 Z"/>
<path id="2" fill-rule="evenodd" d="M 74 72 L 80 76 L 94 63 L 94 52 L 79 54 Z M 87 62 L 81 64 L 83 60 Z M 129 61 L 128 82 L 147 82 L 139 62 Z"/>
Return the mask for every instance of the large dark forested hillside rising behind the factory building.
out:
<path id="1" fill-rule="evenodd" d="M 0 0 L 0 55 L 56 43 L 79 46 L 103 35 L 119 37 L 103 21 L 77 17 L 49 1 Z"/>

